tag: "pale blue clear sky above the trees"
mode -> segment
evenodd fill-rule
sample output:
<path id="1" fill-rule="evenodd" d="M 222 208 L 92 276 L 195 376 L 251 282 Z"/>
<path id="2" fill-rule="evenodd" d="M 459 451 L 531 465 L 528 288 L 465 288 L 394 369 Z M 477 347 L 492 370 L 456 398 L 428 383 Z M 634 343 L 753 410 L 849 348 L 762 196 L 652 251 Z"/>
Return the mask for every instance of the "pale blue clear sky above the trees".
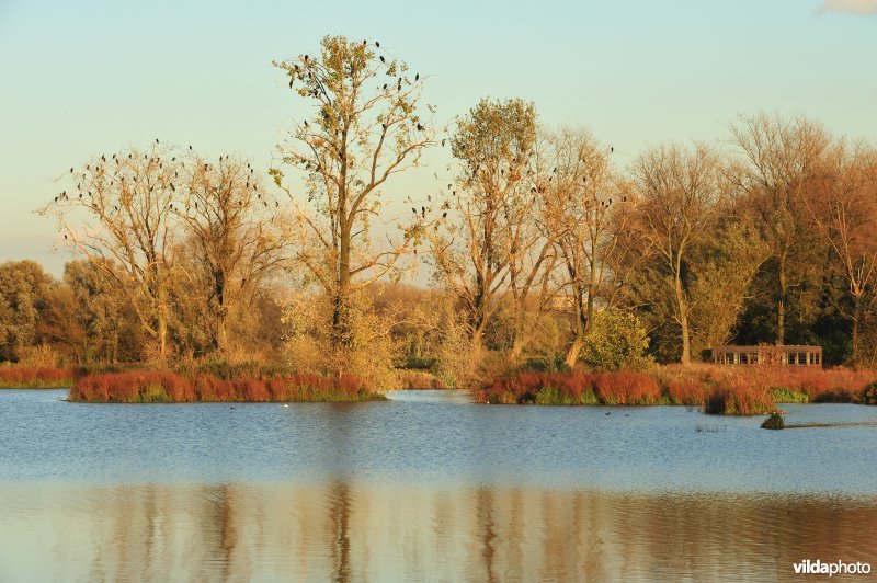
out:
<path id="1" fill-rule="evenodd" d="M 523 98 L 620 164 L 660 142 L 727 144 L 760 111 L 877 142 L 877 0 L 0 0 L 0 262 L 60 275 L 70 255 L 34 210 L 102 152 L 161 138 L 266 170 L 308 113 L 271 62 L 327 34 L 407 61 L 441 125 Z M 446 153 L 426 161 L 388 195 L 437 192 Z"/>

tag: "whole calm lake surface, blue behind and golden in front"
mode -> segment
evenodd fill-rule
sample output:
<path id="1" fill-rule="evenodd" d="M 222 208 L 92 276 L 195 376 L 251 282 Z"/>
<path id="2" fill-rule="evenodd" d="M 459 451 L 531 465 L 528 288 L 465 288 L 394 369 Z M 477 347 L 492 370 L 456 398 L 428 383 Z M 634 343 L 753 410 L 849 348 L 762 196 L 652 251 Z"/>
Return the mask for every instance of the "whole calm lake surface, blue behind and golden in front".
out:
<path id="1" fill-rule="evenodd" d="M 767 432 L 762 418 L 685 408 L 476 405 L 436 391 L 288 408 L 65 397 L 0 391 L 0 581 L 877 569 L 877 408 L 786 405 L 789 423 L 845 425 Z"/>

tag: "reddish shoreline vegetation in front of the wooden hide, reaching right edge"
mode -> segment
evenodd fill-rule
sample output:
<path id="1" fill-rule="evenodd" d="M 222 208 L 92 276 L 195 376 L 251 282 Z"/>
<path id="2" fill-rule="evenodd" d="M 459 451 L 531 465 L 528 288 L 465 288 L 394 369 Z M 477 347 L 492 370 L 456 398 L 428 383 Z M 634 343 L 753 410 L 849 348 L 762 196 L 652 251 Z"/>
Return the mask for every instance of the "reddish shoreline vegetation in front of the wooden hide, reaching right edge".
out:
<path id="1" fill-rule="evenodd" d="M 647 371 L 517 373 L 487 384 L 476 401 L 503 404 L 683 404 L 708 414 L 753 415 L 776 403 L 877 403 L 877 371 L 791 367 L 663 366 Z"/>

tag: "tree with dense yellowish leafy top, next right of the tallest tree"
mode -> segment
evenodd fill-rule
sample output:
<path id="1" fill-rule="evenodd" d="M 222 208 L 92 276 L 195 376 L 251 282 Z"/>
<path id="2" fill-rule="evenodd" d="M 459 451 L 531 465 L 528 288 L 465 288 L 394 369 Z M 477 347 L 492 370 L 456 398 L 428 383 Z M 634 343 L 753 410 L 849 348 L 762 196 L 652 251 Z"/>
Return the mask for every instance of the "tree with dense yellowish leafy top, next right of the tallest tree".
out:
<path id="1" fill-rule="evenodd" d="M 524 290 L 533 284 L 533 267 L 538 268 L 540 261 L 529 270 L 523 264 L 536 242 L 525 226 L 532 219 L 527 215 L 534 195 L 540 194 L 533 185 L 531 165 L 535 140 L 532 103 L 481 100 L 458 121 L 451 141 L 456 184 L 448 184 L 442 194 L 442 228 L 426 232 L 436 277 L 465 306 L 476 352 L 511 273 L 516 278 L 515 299 L 523 301 Z"/>

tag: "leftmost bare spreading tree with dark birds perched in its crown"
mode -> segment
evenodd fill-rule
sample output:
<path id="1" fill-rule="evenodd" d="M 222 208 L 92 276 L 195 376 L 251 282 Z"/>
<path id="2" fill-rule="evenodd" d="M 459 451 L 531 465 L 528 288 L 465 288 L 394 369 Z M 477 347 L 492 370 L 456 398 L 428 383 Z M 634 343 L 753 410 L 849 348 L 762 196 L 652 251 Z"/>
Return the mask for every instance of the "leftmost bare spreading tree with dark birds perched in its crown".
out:
<path id="1" fill-rule="evenodd" d="M 41 210 L 57 218 L 64 243 L 125 292 L 161 358 L 168 351 L 179 168 L 158 140 L 146 150 L 102 155 L 71 168 L 69 191 Z"/>

